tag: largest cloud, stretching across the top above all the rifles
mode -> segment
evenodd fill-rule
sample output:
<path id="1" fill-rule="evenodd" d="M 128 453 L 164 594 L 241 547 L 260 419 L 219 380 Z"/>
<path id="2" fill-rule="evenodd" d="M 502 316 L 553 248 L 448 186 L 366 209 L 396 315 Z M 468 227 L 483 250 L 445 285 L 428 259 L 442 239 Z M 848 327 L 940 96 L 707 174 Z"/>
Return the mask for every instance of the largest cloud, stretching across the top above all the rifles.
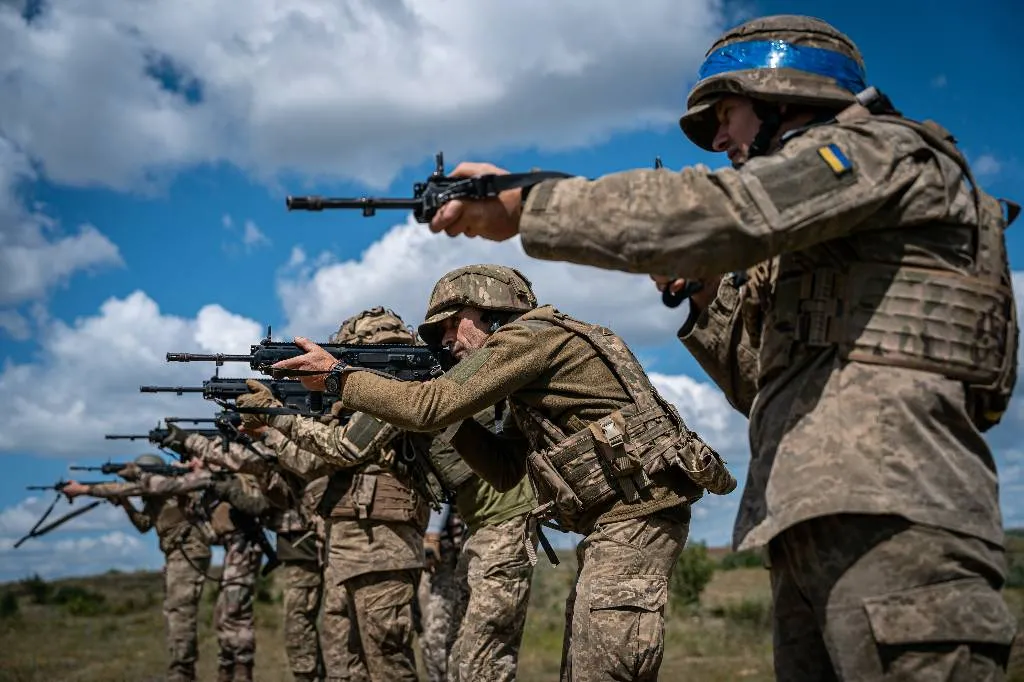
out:
<path id="1" fill-rule="evenodd" d="M 671 125 L 722 0 L 120 0 L 0 5 L 4 134 L 54 181 L 227 161 L 385 184 L 436 148 Z"/>

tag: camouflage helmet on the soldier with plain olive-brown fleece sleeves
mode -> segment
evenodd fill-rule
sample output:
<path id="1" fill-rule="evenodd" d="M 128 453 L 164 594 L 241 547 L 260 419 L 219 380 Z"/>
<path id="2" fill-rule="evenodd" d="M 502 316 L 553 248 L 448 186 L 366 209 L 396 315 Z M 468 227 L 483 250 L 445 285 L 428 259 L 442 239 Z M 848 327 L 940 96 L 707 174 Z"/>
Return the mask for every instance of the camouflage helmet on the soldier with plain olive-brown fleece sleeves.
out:
<path id="1" fill-rule="evenodd" d="M 506 265 L 466 265 L 452 270 L 434 285 L 420 338 L 440 343 L 438 325 L 464 305 L 483 310 L 526 312 L 537 307 L 532 286 L 519 270 Z"/>

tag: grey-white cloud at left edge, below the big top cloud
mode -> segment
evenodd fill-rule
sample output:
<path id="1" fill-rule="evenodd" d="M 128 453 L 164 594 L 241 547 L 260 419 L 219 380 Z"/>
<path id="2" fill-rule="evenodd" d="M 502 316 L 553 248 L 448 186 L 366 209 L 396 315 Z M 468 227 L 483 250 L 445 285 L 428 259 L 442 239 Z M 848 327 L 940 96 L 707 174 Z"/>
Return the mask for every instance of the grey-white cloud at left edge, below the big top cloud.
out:
<path id="1" fill-rule="evenodd" d="M 67 233 L 45 207 L 27 207 L 19 191 L 35 179 L 28 157 L 0 135 L 0 330 L 15 339 L 32 332 L 18 306 L 45 299 L 77 272 L 123 265 L 94 226 Z"/>

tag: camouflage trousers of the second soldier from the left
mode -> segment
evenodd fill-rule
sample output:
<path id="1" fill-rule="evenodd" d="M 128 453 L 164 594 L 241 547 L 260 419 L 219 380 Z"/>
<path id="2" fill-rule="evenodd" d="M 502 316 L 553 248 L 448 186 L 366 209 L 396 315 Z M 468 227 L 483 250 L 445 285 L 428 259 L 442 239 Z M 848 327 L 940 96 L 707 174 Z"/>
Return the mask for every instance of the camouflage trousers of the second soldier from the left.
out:
<path id="1" fill-rule="evenodd" d="M 224 571 L 213 608 L 214 629 L 220 646 L 217 663 L 221 668 L 252 665 L 256 657 L 253 601 L 262 556 L 259 546 L 241 532 L 224 541 Z"/>

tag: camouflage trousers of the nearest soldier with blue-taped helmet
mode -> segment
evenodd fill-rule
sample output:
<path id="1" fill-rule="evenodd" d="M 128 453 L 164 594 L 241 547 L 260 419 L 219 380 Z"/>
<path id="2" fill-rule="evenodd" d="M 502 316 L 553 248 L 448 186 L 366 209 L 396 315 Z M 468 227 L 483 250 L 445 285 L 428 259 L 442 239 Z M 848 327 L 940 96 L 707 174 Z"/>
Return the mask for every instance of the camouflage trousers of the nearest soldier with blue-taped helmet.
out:
<path id="1" fill-rule="evenodd" d="M 768 548 L 777 679 L 1004 679 L 1002 549 L 862 514 L 804 521 Z"/>

